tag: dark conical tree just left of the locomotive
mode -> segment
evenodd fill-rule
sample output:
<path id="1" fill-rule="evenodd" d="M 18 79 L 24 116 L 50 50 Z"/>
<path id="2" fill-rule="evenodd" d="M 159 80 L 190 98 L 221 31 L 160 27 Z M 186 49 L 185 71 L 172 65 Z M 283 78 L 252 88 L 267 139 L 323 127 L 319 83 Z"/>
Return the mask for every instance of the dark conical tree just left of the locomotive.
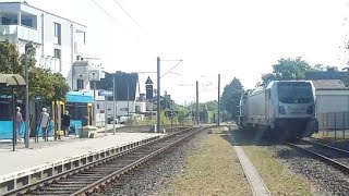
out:
<path id="1" fill-rule="evenodd" d="M 224 88 L 220 107 L 230 114 L 231 119 L 234 119 L 238 113 L 239 101 L 243 93 L 243 86 L 237 77 Z"/>

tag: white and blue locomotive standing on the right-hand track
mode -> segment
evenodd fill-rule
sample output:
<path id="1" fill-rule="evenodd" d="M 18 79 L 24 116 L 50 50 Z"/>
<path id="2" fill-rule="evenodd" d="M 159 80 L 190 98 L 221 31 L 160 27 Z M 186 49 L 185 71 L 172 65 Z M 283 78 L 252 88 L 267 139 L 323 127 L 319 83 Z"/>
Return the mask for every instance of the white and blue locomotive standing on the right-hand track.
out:
<path id="1" fill-rule="evenodd" d="M 238 125 L 278 138 L 309 137 L 318 130 L 315 99 L 310 81 L 273 81 L 242 95 Z"/>

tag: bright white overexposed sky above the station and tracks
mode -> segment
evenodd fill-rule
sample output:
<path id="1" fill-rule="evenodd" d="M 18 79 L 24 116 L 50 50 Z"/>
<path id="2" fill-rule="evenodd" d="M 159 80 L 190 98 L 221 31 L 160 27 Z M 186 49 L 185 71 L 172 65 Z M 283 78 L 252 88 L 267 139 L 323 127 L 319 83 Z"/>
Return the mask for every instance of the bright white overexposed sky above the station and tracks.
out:
<path id="1" fill-rule="evenodd" d="M 280 58 L 345 66 L 348 0 L 27 0 L 87 26 L 88 53 L 108 72 L 140 72 L 141 90 L 156 58 L 161 78 L 180 103 L 217 100 L 233 77 L 253 88 Z M 104 12 L 96 4 L 98 3 Z M 120 3 L 131 17 L 116 3 Z"/>

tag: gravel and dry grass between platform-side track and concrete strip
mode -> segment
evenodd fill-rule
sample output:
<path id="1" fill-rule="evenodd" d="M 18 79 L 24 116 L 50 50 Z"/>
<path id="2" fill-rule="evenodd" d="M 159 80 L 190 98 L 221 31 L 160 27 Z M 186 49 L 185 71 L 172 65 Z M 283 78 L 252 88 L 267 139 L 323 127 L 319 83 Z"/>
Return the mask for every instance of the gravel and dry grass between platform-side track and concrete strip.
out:
<path id="1" fill-rule="evenodd" d="M 168 150 L 96 195 L 252 194 L 233 148 L 215 130 Z"/>

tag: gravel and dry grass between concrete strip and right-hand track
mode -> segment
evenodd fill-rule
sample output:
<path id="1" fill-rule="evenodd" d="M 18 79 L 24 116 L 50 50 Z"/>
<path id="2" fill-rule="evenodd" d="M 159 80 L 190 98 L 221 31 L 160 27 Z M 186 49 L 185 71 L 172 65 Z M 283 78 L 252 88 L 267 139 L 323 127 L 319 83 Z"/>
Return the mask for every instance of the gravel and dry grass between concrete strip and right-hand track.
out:
<path id="1" fill-rule="evenodd" d="M 285 192 L 294 189 L 294 187 L 304 187 L 305 189 L 301 192 L 296 188 L 298 194 L 293 195 L 349 195 L 349 177 L 333 167 L 284 144 L 257 142 L 258 139 L 253 139 L 252 134 L 239 131 L 236 131 L 234 136 L 239 138 L 241 145 L 245 146 L 245 152 L 262 175 L 272 195 L 289 195 Z M 273 159 L 281 164 L 268 167 Z M 275 170 L 277 167 L 278 169 Z M 290 173 L 285 174 L 288 173 L 286 170 Z M 299 179 L 299 182 L 292 182 L 291 177 Z M 301 185 L 301 181 L 309 188 Z M 282 185 L 280 182 L 285 184 Z M 286 184 L 291 186 L 286 188 Z"/>

